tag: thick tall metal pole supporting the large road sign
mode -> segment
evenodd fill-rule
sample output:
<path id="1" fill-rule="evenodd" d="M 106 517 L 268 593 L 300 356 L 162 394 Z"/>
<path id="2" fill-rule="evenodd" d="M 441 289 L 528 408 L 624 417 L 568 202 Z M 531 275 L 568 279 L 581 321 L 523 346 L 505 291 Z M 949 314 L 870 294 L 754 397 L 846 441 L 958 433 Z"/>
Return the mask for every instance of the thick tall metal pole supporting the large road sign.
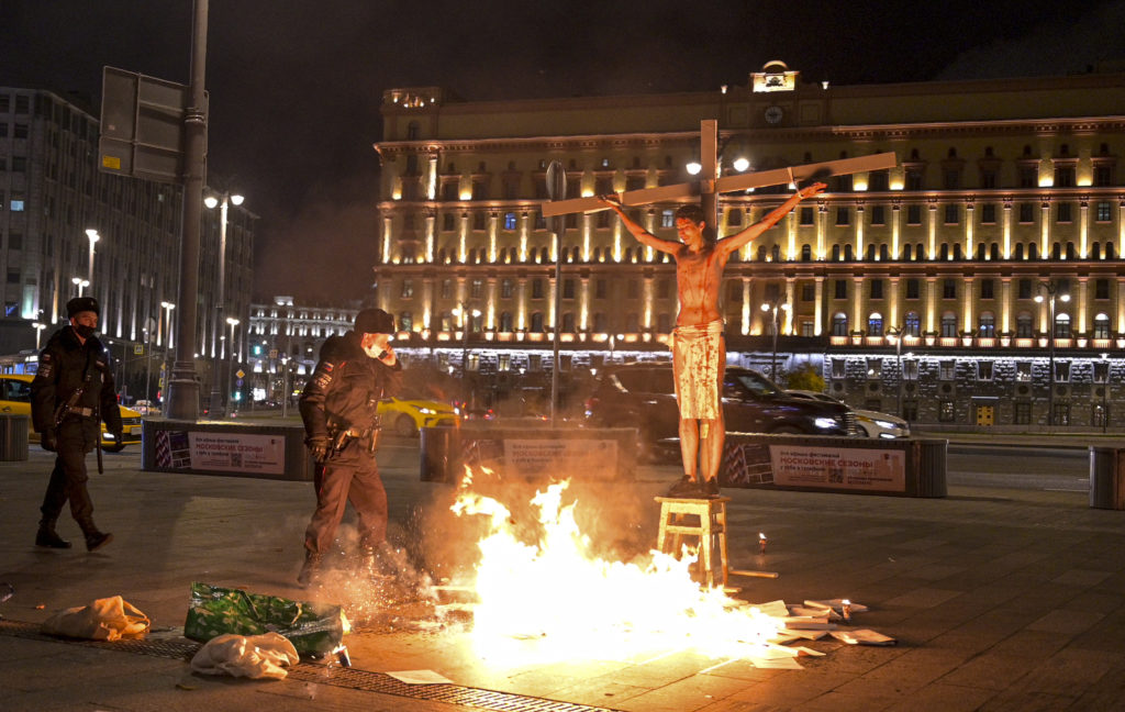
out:
<path id="1" fill-rule="evenodd" d="M 204 177 L 207 171 L 207 112 L 204 79 L 207 71 L 207 3 L 195 0 L 191 28 L 191 106 L 183 119 L 183 237 L 180 245 L 179 319 L 176 363 L 169 379 L 168 415 L 173 420 L 196 421 L 199 417 L 199 381 L 196 379 L 196 300 L 199 294 L 199 223 L 204 204 Z"/>

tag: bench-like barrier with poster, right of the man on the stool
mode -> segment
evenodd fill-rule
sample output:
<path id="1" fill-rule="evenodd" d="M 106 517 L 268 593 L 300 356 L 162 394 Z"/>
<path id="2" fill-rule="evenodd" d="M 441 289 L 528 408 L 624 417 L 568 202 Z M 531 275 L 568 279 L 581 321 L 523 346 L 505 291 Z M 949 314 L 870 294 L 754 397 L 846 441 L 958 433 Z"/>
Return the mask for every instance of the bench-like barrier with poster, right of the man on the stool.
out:
<path id="1" fill-rule="evenodd" d="M 723 487 L 944 497 L 947 440 L 728 433 Z"/>

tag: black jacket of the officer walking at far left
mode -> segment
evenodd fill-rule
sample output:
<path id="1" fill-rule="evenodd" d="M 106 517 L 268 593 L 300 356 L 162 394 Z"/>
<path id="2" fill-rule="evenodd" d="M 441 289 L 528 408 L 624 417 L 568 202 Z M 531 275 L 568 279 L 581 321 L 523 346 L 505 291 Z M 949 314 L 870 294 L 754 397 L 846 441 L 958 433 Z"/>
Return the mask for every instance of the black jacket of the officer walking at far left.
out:
<path id="1" fill-rule="evenodd" d="M 32 381 L 32 424 L 37 432 L 55 426 L 58 406 L 68 403 L 83 382 L 87 382 L 86 389 L 73 407 L 88 408 L 91 415 L 74 414 L 65 422 L 81 421 L 83 431 L 98 436 L 101 429 L 96 416 L 100 416 L 109 432 L 122 432 L 109 352 L 97 336 L 87 339 L 84 344 L 79 343 L 69 325 L 55 332 L 39 352 L 39 368 Z"/>

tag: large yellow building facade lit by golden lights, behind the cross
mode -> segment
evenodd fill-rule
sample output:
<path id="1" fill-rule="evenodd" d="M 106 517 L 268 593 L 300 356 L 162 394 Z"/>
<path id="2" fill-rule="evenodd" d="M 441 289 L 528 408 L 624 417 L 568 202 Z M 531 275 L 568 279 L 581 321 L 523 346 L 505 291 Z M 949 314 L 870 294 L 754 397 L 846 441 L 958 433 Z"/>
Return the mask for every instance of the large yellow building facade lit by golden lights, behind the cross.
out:
<path id="1" fill-rule="evenodd" d="M 830 179 L 731 261 L 730 363 L 768 371 L 776 314 L 782 369 L 813 363 L 854 406 L 935 425 L 1122 426 L 1123 106 L 1125 74 L 835 87 L 780 62 L 698 93 L 471 102 L 388 90 L 378 303 L 418 355 L 456 360 L 464 325 L 478 359 L 549 360 L 558 321 L 575 367 L 600 363 L 611 340 L 657 358 L 675 321 L 673 265 L 609 211 L 565 218 L 555 313 L 546 169 L 562 163 L 568 197 L 687 182 L 699 123 L 717 118 L 724 173 L 899 159 Z M 719 233 L 788 192 L 722 196 Z M 674 240 L 675 207 L 632 213 Z"/>

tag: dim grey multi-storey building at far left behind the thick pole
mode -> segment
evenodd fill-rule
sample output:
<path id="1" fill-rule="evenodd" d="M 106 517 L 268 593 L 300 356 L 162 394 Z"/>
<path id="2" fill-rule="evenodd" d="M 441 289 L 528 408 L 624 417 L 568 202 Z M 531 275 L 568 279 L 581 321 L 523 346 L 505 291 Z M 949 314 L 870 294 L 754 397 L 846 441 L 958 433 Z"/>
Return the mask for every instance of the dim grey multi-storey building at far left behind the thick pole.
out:
<path id="1" fill-rule="evenodd" d="M 40 334 L 45 343 L 65 322 L 66 301 L 81 289 L 101 304 L 99 331 L 123 369 L 118 377 L 129 393 L 140 394 L 147 385 L 154 395 L 159 373 L 148 378 L 147 371 L 160 370 L 176 339 L 169 333 L 174 315 L 169 318 L 161 304 L 178 298 L 182 191 L 100 172 L 98 119 L 80 103 L 46 90 L 0 87 L 0 353 L 33 350 L 36 323 L 46 325 Z M 210 358 L 214 349 L 226 357 L 225 317 L 245 323 L 255 220 L 244 208 L 228 213 L 225 308 L 219 314 L 214 308 L 219 214 L 204 211 L 196 334 L 201 357 Z M 92 252 L 88 229 L 98 235 Z M 151 359 L 137 354 L 145 343 Z M 208 380 L 209 361 L 198 363 Z"/>

